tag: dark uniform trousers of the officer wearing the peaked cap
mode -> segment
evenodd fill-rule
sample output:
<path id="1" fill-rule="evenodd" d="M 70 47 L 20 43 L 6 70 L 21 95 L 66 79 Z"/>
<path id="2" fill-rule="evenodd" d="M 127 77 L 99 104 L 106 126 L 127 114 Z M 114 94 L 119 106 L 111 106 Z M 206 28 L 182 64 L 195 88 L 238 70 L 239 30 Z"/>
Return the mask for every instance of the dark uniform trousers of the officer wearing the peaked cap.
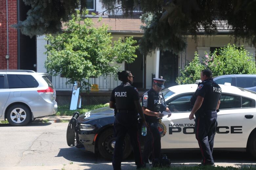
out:
<path id="1" fill-rule="evenodd" d="M 161 136 L 158 130 L 158 122 L 149 123 L 149 128 L 147 129 L 147 136 L 144 144 L 144 150 L 142 154 L 142 160 L 145 163 L 148 162 L 148 157 L 150 153 L 153 156 L 154 161 L 160 161 L 161 158 Z"/>

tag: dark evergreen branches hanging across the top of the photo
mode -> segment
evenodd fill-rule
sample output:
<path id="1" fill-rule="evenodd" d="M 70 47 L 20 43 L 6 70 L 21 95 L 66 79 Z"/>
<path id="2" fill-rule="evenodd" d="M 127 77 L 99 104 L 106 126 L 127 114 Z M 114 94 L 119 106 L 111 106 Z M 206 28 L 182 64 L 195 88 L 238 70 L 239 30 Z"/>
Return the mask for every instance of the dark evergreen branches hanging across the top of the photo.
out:
<path id="1" fill-rule="evenodd" d="M 86 0 L 23 0 L 31 7 L 28 17 L 16 27 L 25 35 L 43 35 L 61 32 L 75 9 L 83 11 Z M 140 46 L 144 53 L 156 48 L 181 51 L 186 48 L 186 36 L 198 31 L 214 35 L 218 28 L 230 29 L 235 40 L 256 43 L 256 1 L 254 0 L 100 0 L 105 13 L 129 15 L 141 11 L 145 22 Z M 103 12 L 103 13 L 104 13 Z M 142 21 L 145 21 L 145 19 Z"/>

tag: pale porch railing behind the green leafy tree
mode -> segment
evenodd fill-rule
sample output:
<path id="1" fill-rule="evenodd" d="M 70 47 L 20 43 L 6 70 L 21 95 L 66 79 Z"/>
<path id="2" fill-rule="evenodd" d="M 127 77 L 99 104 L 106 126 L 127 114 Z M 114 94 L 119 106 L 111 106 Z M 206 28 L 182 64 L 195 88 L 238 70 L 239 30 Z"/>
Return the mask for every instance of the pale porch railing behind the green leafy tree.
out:
<path id="1" fill-rule="evenodd" d="M 66 77 L 50 76 L 49 79 L 56 90 L 71 91 L 73 88 L 73 83 L 67 83 L 69 79 Z M 97 84 L 99 90 L 112 90 L 121 84 L 121 81 L 114 75 L 100 76 L 97 78 L 91 77 L 89 79 L 84 79 L 83 81 L 89 82 L 90 84 Z M 91 90 L 91 87 L 89 87 L 89 90 Z"/>

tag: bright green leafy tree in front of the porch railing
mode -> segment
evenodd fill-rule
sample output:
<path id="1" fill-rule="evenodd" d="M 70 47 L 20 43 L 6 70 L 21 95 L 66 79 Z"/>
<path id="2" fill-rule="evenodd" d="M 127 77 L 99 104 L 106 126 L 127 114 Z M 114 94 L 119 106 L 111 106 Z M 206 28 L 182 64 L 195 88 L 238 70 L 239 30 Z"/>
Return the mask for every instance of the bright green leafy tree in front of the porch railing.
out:
<path id="1" fill-rule="evenodd" d="M 78 14 L 72 15 L 63 33 L 47 35 L 45 67 L 48 73 L 62 74 L 69 78 L 68 83 L 81 81 L 82 88 L 88 88 L 89 83 L 82 81 L 84 78 L 116 74 L 119 67 L 116 62 L 135 60 L 138 46 L 133 37 L 124 42 L 119 38 L 112 45 L 108 26 L 95 28 L 93 25 L 91 18 L 82 20 Z"/>

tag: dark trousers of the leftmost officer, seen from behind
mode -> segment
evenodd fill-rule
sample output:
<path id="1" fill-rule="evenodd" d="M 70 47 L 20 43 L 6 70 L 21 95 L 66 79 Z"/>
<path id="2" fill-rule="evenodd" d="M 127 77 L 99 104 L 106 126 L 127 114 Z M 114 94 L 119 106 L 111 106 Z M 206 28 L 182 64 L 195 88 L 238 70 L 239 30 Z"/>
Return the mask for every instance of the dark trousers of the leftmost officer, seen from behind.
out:
<path id="1" fill-rule="evenodd" d="M 133 148 L 135 164 L 137 167 L 142 167 L 142 159 L 139 144 L 139 126 L 138 119 L 130 113 L 116 114 L 116 120 L 114 124 L 114 135 L 116 137 L 116 144 L 114 148 L 114 156 L 112 165 L 114 170 L 121 169 L 121 161 L 123 158 L 123 143 L 125 135 L 128 133 Z"/>

